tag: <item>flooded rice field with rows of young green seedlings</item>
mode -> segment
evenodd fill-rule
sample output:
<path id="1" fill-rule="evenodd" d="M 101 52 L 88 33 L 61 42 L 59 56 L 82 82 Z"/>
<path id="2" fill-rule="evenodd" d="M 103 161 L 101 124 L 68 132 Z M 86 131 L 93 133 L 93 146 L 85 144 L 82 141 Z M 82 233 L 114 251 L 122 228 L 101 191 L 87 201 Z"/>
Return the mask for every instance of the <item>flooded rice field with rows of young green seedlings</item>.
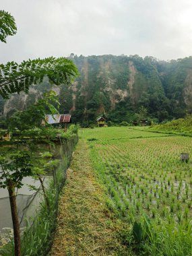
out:
<path id="1" fill-rule="evenodd" d="M 150 220 L 158 219 L 158 223 L 172 222 L 173 229 L 177 224 L 189 224 L 191 137 L 152 133 L 148 128 L 135 127 L 82 129 L 79 135 L 90 146 L 94 168 L 108 193 L 106 204 L 121 220 L 133 224 L 146 214 Z M 182 152 L 189 153 L 189 162 L 181 161 Z M 191 229 L 188 231 L 189 238 Z M 168 255 L 192 255 L 189 248 L 183 253 Z"/>

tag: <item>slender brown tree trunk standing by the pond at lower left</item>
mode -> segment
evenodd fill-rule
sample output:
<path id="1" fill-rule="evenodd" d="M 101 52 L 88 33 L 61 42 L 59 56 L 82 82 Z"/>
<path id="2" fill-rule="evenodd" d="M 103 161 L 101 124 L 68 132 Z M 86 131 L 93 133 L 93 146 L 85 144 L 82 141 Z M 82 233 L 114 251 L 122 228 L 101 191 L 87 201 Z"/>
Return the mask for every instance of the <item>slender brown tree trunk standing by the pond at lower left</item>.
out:
<path id="1" fill-rule="evenodd" d="M 18 207 L 16 204 L 15 187 L 7 187 L 9 191 L 9 201 L 11 206 L 11 216 L 13 221 L 13 234 L 15 243 L 15 256 L 21 256 L 21 238 L 20 238 L 20 222 L 18 217 Z"/>

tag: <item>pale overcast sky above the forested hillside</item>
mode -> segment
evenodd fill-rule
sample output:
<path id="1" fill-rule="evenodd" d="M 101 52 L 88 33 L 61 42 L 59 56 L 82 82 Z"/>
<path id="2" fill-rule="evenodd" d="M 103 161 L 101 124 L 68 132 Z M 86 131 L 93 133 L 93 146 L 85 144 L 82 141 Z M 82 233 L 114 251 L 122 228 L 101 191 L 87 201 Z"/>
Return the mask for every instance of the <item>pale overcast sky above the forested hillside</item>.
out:
<path id="1" fill-rule="evenodd" d="M 192 55 L 191 0 L 0 0 L 18 32 L 0 62 L 75 55 Z"/>

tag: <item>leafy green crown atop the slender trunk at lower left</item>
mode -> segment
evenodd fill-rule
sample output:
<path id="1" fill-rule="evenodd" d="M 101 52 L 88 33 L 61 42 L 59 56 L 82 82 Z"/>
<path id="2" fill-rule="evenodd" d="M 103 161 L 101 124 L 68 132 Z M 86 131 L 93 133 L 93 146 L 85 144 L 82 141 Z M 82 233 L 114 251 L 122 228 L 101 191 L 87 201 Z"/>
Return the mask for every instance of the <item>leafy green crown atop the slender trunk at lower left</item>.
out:
<path id="1" fill-rule="evenodd" d="M 38 178 L 49 170 L 52 154 L 43 148 L 37 148 L 32 141 L 22 144 L 16 143 L 9 148 L 1 148 L 0 157 L 0 187 L 19 189 L 24 177 Z"/>

